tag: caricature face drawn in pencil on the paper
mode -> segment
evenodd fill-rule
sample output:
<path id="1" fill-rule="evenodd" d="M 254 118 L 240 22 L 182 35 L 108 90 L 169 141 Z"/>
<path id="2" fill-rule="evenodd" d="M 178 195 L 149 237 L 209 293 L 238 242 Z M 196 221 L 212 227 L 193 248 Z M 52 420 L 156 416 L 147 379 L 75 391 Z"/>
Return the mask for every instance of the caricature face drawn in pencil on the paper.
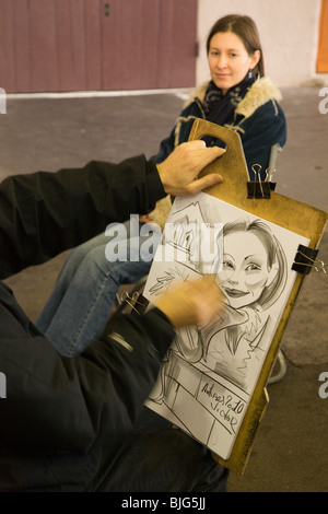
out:
<path id="1" fill-rule="evenodd" d="M 223 267 L 219 272 L 221 289 L 233 308 L 256 302 L 277 269 L 269 269 L 262 242 L 251 232 L 232 232 L 224 236 Z"/>

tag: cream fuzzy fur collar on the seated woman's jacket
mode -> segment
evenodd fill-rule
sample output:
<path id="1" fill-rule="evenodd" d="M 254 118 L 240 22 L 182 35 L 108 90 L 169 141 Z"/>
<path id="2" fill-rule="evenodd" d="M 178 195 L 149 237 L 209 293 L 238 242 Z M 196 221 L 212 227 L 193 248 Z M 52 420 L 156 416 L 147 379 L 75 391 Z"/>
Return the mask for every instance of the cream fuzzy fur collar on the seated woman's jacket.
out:
<path id="1" fill-rule="evenodd" d="M 209 81 L 204 84 L 200 85 L 192 96 L 187 102 L 187 105 L 190 104 L 195 97 L 199 98 L 200 102 L 203 102 L 207 86 Z M 261 105 L 266 104 L 267 102 L 271 101 L 281 101 L 282 95 L 279 89 L 271 82 L 270 79 L 263 77 L 258 79 L 254 82 L 254 84 L 249 87 L 248 93 L 242 102 L 237 105 L 235 110 L 236 115 L 244 116 L 245 118 L 249 118 L 257 108 Z"/>

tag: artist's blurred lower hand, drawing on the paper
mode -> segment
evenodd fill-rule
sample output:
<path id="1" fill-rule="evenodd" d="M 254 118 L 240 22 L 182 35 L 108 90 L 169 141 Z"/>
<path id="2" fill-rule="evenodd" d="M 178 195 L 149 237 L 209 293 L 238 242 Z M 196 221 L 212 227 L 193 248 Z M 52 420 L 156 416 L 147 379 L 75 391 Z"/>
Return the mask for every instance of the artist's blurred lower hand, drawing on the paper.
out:
<path id="1" fill-rule="evenodd" d="M 176 328 L 206 325 L 223 304 L 222 292 L 212 276 L 183 282 L 155 303 Z"/>

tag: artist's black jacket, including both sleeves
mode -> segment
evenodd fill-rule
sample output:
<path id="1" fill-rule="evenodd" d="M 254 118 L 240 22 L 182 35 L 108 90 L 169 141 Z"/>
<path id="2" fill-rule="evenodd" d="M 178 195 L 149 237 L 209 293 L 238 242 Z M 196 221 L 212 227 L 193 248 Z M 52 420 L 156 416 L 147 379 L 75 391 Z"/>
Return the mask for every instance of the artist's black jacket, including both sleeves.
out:
<path id="1" fill-rule="evenodd" d="M 1 277 L 43 262 L 165 195 L 152 163 L 14 176 L 0 185 Z M 155 337 L 154 337 L 155 334 Z M 60 357 L 0 282 L 0 491 L 104 491 L 174 329 L 159 309 L 118 315 L 74 359 Z M 154 348 L 155 344 L 155 348 Z"/>

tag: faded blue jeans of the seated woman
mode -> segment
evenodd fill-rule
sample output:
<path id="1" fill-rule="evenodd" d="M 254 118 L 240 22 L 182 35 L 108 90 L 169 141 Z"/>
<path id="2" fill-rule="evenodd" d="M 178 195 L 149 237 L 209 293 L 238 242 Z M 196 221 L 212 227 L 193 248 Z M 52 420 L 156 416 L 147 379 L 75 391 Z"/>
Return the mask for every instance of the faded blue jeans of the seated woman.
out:
<path id="1" fill-rule="evenodd" d="M 117 260 L 109 261 L 106 257 L 109 237 L 105 233 L 72 249 L 36 320 L 38 329 L 62 355 L 77 355 L 99 337 L 118 288 L 138 282 L 150 270 L 161 232 L 139 235 L 139 229 L 145 225 L 138 223 L 136 234 L 131 232 L 130 220 L 115 226 L 118 232 L 113 242 L 118 248 Z M 147 241 L 152 245 L 145 244 Z"/>

